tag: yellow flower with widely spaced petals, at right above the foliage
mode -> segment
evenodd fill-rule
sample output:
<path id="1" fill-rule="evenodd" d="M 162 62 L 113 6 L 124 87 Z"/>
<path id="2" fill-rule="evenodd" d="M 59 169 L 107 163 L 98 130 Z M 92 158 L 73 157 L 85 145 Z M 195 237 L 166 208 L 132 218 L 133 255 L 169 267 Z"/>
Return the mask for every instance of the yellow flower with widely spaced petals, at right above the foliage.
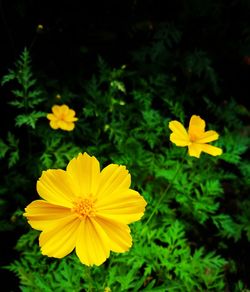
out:
<path id="1" fill-rule="evenodd" d="M 207 144 L 217 140 L 219 134 L 212 130 L 205 132 L 205 126 L 205 121 L 196 115 L 191 117 L 188 131 L 180 122 L 171 121 L 169 128 L 173 133 L 170 135 L 170 141 L 176 146 L 188 146 L 188 154 L 197 158 L 200 157 L 201 152 L 213 156 L 221 155 L 221 148 Z"/>

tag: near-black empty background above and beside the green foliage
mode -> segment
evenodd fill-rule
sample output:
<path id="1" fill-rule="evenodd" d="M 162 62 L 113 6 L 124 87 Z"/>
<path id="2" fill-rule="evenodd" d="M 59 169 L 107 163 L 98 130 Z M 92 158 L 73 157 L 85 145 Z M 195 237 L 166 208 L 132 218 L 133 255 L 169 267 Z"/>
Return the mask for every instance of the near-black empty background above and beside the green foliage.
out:
<path id="1" fill-rule="evenodd" d="M 133 65 L 131 52 L 152 43 L 160 25 L 182 31 L 180 54 L 201 49 L 213 59 L 222 93 L 248 106 L 250 87 L 250 1 L 124 0 L 0 1 L 0 76 L 13 68 L 24 47 L 34 70 L 62 84 L 88 78 L 97 57 L 110 65 Z M 43 29 L 37 29 L 38 25 Z M 10 110 L 0 90 L 0 119 Z M 1 94 L 2 92 L 2 94 Z M 8 93 L 6 93 L 8 95 Z M 15 230 L 15 229 L 14 229 Z M 1 235 L 1 265 L 13 261 L 16 232 Z M 15 276 L 0 271 L 2 287 L 15 291 Z M 17 290 L 18 291 L 18 290 Z"/>

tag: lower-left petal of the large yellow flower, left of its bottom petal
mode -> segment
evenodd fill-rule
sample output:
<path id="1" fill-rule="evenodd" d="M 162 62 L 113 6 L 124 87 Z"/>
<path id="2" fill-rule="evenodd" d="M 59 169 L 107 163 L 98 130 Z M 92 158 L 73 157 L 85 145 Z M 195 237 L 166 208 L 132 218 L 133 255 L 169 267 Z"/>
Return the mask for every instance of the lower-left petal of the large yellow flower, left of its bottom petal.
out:
<path id="1" fill-rule="evenodd" d="M 43 255 L 62 258 L 76 246 L 78 229 L 81 221 L 72 216 L 58 221 L 58 225 L 49 231 L 43 231 L 39 237 L 39 245 Z"/>

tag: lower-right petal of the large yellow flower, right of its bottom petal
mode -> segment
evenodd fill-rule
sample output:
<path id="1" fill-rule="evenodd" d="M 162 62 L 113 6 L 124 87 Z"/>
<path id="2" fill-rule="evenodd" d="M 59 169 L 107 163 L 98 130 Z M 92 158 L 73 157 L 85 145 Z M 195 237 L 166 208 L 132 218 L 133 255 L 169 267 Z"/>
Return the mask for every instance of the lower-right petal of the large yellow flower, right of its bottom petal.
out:
<path id="1" fill-rule="evenodd" d="M 130 228 L 126 224 L 98 217 L 95 219 L 95 222 L 107 234 L 108 244 L 112 251 L 125 252 L 132 246 Z"/>

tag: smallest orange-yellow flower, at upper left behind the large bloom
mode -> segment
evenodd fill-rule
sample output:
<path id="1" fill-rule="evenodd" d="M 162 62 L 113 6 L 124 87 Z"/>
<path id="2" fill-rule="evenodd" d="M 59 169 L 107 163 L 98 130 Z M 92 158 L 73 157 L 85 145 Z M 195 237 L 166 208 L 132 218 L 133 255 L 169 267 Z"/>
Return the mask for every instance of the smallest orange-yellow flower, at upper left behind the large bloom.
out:
<path id="1" fill-rule="evenodd" d="M 75 117 L 75 111 L 70 109 L 67 105 L 53 105 L 52 114 L 47 114 L 50 120 L 52 129 L 62 129 L 65 131 L 72 131 L 75 127 L 74 122 L 78 120 Z"/>

